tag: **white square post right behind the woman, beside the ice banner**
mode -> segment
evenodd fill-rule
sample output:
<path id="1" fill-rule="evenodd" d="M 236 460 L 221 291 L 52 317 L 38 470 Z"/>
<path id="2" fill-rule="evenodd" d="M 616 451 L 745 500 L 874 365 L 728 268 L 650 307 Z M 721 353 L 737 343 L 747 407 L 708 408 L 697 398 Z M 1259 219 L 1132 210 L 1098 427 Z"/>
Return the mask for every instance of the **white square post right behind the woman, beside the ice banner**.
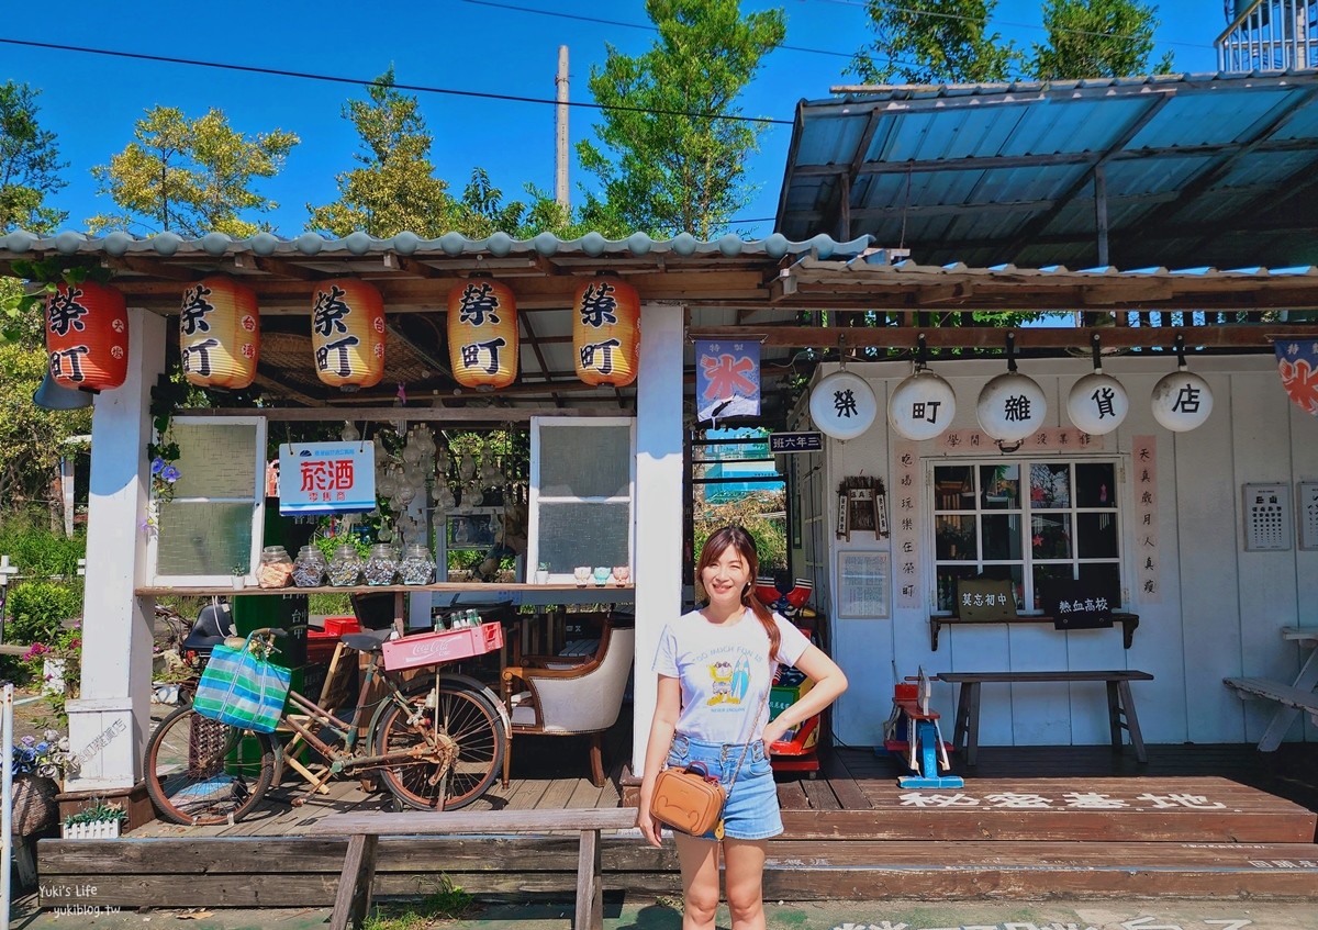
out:
<path id="1" fill-rule="evenodd" d="M 684 308 L 643 303 L 637 385 L 637 490 L 633 576 L 637 656 L 652 656 L 663 624 L 681 611 L 681 350 Z M 643 775 L 656 680 L 648 659 L 637 664 L 631 703 L 631 771 Z"/>

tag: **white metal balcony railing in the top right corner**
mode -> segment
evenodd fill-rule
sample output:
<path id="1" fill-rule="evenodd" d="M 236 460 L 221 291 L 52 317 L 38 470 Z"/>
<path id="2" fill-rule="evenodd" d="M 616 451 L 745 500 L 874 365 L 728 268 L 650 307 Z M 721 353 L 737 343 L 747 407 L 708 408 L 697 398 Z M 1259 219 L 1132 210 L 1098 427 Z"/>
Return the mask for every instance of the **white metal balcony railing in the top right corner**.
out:
<path id="1" fill-rule="evenodd" d="M 1227 0 L 1219 71 L 1318 67 L 1318 0 Z"/>

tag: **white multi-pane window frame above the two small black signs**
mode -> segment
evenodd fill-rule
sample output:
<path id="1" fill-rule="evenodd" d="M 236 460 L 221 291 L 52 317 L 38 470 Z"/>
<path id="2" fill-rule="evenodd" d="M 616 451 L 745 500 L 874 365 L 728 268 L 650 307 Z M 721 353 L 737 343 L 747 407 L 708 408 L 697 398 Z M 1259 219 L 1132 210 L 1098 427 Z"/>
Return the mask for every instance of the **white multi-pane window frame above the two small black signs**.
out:
<path id="1" fill-rule="evenodd" d="M 1057 514 L 1057 512 L 1072 514 L 1075 518 L 1075 520 L 1073 523 L 1073 526 L 1074 526 L 1073 532 L 1078 533 L 1078 527 L 1079 527 L 1078 518 L 1079 518 L 1079 514 L 1083 514 L 1083 512 L 1095 512 L 1095 511 L 1103 511 L 1103 512 L 1106 512 L 1106 511 L 1115 511 L 1116 520 L 1118 520 L 1118 528 L 1116 528 L 1116 555 L 1112 556 L 1112 557 L 1103 557 L 1103 559 L 1081 559 L 1079 555 L 1078 555 L 1079 553 L 1079 540 L 1078 539 L 1073 539 L 1072 540 L 1073 556 L 1070 559 L 1068 559 L 1068 560 L 1041 559 L 1041 560 L 1039 560 L 1039 564 L 1041 564 L 1041 565 L 1058 564 L 1058 562 L 1070 562 L 1072 565 L 1078 565 L 1078 564 L 1082 564 L 1082 562 L 1095 564 L 1095 565 L 1115 564 L 1116 565 L 1116 576 L 1118 576 L 1118 581 L 1119 581 L 1122 601 L 1124 602 L 1126 599 L 1128 599 L 1128 590 L 1130 590 L 1130 588 L 1127 585 L 1127 581 L 1130 578 L 1130 572 L 1128 572 L 1127 560 L 1128 560 L 1128 549 L 1130 549 L 1130 547 L 1127 545 L 1127 541 L 1126 541 L 1126 531 L 1127 531 L 1127 520 L 1132 519 L 1132 516 L 1131 516 L 1132 511 L 1131 511 L 1131 508 L 1128 506 L 1128 502 L 1127 502 L 1127 499 L 1124 497 L 1126 462 L 1124 462 L 1124 460 L 1123 460 L 1122 456 L 1114 456 L 1114 454 L 1103 454 L 1103 456 L 1035 454 L 1035 456 L 1021 456 L 1020 458 L 1015 458 L 1015 457 L 1014 458 L 991 458 L 991 457 L 990 458 L 978 458 L 978 457 L 975 457 L 975 458 L 970 458 L 970 457 L 967 457 L 967 458 L 946 458 L 946 457 L 941 457 L 941 458 L 925 458 L 924 462 L 925 462 L 925 469 L 927 469 L 925 470 L 925 490 L 927 490 L 925 501 L 928 503 L 928 514 L 929 514 L 929 519 L 928 519 L 928 522 L 925 524 L 925 551 L 929 553 L 929 560 L 928 560 L 928 566 L 929 566 L 928 585 L 929 586 L 928 586 L 928 590 L 929 590 L 929 607 L 931 607 L 931 613 L 933 613 L 933 614 L 942 614 L 942 615 L 949 614 L 949 611 L 942 610 L 942 609 L 938 607 L 938 566 L 940 566 L 940 561 L 938 561 L 938 545 L 937 545 L 937 540 L 936 540 L 936 535 L 937 535 L 937 530 L 938 530 L 938 518 L 940 516 L 982 516 L 985 514 L 998 515 L 998 514 L 1011 514 L 1011 512 L 1019 512 L 1020 516 L 1021 516 L 1021 533 L 1023 533 L 1021 535 L 1021 557 L 1020 557 L 1020 560 L 996 559 L 996 560 L 991 560 L 988 564 L 991 564 L 991 565 L 1017 564 L 1017 561 L 1019 561 L 1019 564 L 1021 566 L 1021 585 L 1023 585 L 1023 588 L 1021 588 L 1021 598 L 1024 601 L 1024 603 L 1021 603 L 1021 606 L 1020 606 L 1020 613 L 1021 614 L 1040 614 L 1041 613 L 1040 610 L 1037 610 L 1033 606 L 1033 599 L 1035 599 L 1035 595 L 1037 594 L 1035 591 L 1035 580 L 1033 580 L 1035 557 L 1033 557 L 1032 547 L 1029 544 L 1029 536 L 1028 536 L 1028 533 L 1025 533 L 1025 527 L 1029 526 L 1028 520 L 1031 518 L 1031 508 L 1028 506 L 1025 506 L 1025 502 L 1027 502 L 1028 495 L 1029 495 L 1029 465 L 1032 465 L 1032 464 L 1040 464 L 1040 465 L 1048 465 L 1048 464 L 1050 464 L 1050 465 L 1069 465 L 1069 466 L 1072 466 L 1073 470 L 1078 465 L 1111 465 L 1112 466 L 1112 474 L 1114 474 L 1112 483 L 1115 486 L 1112 489 L 1112 495 L 1114 495 L 1112 501 L 1114 501 L 1114 505 L 1111 507 L 1079 507 L 1079 506 L 1077 506 L 1074 503 L 1074 498 L 1073 498 L 1073 503 L 1072 503 L 1070 507 L 1066 507 L 1066 508 L 1048 508 L 1048 510 L 1040 510 L 1039 512 L 1043 512 L 1043 514 L 1048 514 L 1048 512 L 1053 512 L 1053 514 Z M 1020 506 L 1019 510 L 1016 510 L 1016 511 L 1002 511 L 1002 510 L 982 510 L 979 507 L 975 507 L 974 510 L 950 511 L 950 510 L 942 510 L 942 508 L 940 508 L 937 506 L 937 485 L 934 482 L 936 469 L 938 469 L 938 468 L 961 468 L 961 466 L 970 468 L 970 469 L 975 470 L 975 476 L 977 476 L 975 479 L 978 481 L 979 479 L 978 478 L 979 468 L 982 468 L 982 466 L 996 466 L 996 465 L 1019 465 L 1020 466 L 1021 506 Z M 985 565 L 985 560 L 982 557 L 982 547 L 983 547 L 983 539 L 982 539 L 982 536 L 979 537 L 979 543 L 981 543 L 981 552 L 975 553 L 977 557 L 974 560 L 965 560 L 965 561 L 957 562 L 957 564 L 967 565 L 967 566 L 974 565 L 974 566 L 982 568 Z M 952 565 L 953 562 L 944 561 L 941 564 L 942 565 Z"/>

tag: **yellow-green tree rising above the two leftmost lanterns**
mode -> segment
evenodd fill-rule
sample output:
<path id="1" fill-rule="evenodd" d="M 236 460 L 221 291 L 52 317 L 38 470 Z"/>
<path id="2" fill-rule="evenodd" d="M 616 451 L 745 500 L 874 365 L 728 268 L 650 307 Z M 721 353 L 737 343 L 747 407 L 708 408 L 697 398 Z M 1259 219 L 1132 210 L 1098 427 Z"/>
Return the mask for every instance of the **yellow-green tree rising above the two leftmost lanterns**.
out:
<path id="1" fill-rule="evenodd" d="M 254 236 L 268 225 L 240 219 L 278 204 L 256 191 L 257 178 L 273 178 L 298 144 L 275 129 L 246 137 L 229 126 L 223 111 L 188 120 L 177 107 L 153 107 L 137 121 L 134 141 L 91 170 L 121 211 L 87 220 L 94 232 L 142 227 L 185 236 L 223 232 Z"/>

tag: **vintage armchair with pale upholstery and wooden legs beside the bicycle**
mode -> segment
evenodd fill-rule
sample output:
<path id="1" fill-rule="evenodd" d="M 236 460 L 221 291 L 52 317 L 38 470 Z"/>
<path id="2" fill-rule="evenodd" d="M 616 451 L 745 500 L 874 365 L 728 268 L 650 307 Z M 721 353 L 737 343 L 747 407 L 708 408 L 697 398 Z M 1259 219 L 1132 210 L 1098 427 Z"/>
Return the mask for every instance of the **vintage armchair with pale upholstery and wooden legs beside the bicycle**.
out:
<path id="1" fill-rule="evenodd" d="M 502 673 L 502 697 L 513 736 L 590 736 L 590 782 L 604 785 L 604 731 L 622 710 L 622 694 L 635 652 L 631 627 L 605 622 L 600 648 L 588 661 L 568 668 L 509 665 Z M 569 660 L 571 661 L 571 660 Z M 513 740 L 503 753 L 507 786 Z"/>

